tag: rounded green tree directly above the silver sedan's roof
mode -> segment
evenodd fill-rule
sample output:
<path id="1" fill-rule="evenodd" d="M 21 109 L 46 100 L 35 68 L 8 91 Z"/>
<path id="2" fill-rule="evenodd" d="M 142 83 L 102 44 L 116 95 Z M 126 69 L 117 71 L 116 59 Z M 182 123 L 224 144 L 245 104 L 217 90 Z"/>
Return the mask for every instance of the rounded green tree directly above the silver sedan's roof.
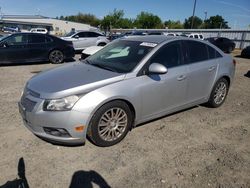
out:
<path id="1" fill-rule="evenodd" d="M 160 29 L 163 28 L 162 21 L 159 16 L 148 12 L 141 12 L 137 15 L 134 25 L 141 29 Z"/>

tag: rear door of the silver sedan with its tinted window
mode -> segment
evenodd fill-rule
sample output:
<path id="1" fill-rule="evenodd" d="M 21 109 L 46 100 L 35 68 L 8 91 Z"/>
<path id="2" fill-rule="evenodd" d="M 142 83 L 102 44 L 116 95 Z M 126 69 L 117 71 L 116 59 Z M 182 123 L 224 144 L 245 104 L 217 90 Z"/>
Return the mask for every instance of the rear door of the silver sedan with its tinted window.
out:
<path id="1" fill-rule="evenodd" d="M 199 41 L 185 41 L 188 62 L 188 103 L 204 100 L 210 94 L 215 80 L 218 61 L 214 48 Z M 212 51 L 213 57 L 210 57 Z"/>

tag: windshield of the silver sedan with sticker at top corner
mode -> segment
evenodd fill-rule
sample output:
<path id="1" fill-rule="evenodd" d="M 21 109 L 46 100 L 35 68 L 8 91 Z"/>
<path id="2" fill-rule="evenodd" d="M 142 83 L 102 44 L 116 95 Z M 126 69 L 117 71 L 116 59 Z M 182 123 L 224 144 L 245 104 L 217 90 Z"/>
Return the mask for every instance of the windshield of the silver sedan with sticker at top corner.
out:
<path id="1" fill-rule="evenodd" d="M 156 45 L 155 43 L 119 40 L 104 47 L 86 61 L 99 68 L 127 73 L 131 72 Z"/>

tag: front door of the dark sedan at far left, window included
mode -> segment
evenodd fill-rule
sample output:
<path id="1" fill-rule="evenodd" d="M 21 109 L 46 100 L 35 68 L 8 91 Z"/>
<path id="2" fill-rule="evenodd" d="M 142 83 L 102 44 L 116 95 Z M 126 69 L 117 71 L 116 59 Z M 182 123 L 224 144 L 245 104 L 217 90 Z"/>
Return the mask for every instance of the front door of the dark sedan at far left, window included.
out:
<path id="1" fill-rule="evenodd" d="M 3 41 L 0 47 L 1 63 L 24 63 L 27 61 L 28 36 L 27 34 L 14 34 Z"/>

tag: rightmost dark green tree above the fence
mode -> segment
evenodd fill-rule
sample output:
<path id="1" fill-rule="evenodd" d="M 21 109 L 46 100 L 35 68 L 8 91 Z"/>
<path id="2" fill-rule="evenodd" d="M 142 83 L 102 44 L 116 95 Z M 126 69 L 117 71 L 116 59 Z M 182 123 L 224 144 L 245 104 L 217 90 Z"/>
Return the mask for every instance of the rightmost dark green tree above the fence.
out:
<path id="1" fill-rule="evenodd" d="M 229 29 L 228 22 L 224 20 L 224 18 L 220 15 L 211 16 L 209 19 L 205 21 L 205 28 L 207 29 Z"/>

